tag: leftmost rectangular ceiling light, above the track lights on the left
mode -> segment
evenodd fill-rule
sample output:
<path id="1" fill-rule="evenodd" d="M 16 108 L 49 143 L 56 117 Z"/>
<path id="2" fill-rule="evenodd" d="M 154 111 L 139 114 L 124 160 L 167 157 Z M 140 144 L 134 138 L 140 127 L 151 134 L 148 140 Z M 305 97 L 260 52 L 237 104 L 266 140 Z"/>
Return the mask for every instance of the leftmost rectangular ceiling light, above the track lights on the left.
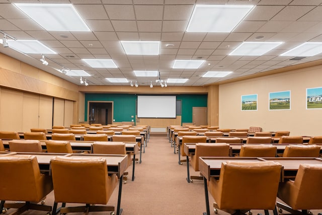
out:
<path id="1" fill-rule="evenodd" d="M 56 54 L 38 40 L 8 40 L 10 48 L 26 54 Z"/>

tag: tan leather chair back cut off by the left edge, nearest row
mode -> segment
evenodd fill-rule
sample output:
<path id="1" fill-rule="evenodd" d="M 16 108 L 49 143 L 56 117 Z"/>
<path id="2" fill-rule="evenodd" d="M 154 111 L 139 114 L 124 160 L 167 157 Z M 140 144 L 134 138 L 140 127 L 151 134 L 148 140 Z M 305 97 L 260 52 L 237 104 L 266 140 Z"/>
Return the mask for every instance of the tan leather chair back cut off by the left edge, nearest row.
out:
<path id="1" fill-rule="evenodd" d="M 39 202 L 47 193 L 44 192 L 44 180 L 40 174 L 37 157 L 30 155 L 1 156 L 0 199 L 13 201 Z M 48 180 L 48 187 L 52 184 Z"/>

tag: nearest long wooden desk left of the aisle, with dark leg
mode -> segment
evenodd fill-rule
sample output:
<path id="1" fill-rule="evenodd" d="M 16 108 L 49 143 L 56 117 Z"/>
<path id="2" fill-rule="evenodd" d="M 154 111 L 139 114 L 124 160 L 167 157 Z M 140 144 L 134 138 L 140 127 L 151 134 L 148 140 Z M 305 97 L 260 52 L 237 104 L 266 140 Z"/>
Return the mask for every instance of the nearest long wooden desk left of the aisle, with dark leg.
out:
<path id="1" fill-rule="evenodd" d="M 121 214 L 121 194 L 122 194 L 122 180 L 123 173 L 127 167 L 127 155 L 103 155 L 103 154 L 62 154 L 62 153 L 16 153 L 16 152 L 1 152 L 0 156 L 21 156 L 32 155 L 37 157 L 39 168 L 41 171 L 50 172 L 50 160 L 56 156 L 68 156 L 68 157 L 99 157 L 105 158 L 107 163 L 108 173 L 115 173 L 119 177 L 119 192 L 117 201 L 116 214 Z M 135 163 L 135 162 L 134 162 Z"/>

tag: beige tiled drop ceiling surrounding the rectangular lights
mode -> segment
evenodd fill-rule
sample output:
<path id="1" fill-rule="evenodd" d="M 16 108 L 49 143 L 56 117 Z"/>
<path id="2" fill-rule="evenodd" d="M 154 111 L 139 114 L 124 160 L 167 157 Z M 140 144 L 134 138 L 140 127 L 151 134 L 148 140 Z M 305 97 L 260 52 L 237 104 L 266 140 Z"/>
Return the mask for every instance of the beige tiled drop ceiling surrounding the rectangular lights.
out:
<path id="1" fill-rule="evenodd" d="M 13 3 L 72 4 L 90 32 L 46 31 Z M 195 5 L 255 5 L 230 33 L 187 32 Z M 0 52 L 81 85 L 80 77 L 59 72 L 85 70 L 90 85 L 155 84 L 155 77 L 136 77 L 133 70 L 158 70 L 160 78 L 189 79 L 168 86 L 204 86 L 285 66 L 322 59 L 280 56 L 304 42 L 322 42 L 320 0 L 0 0 L 0 30 L 15 39 L 39 40 L 57 54 L 22 54 L 0 45 Z M 0 34 L 1 38 L 4 37 Z M 159 55 L 126 55 L 120 41 L 160 41 Z M 243 42 L 283 42 L 262 56 L 229 55 Z M 92 68 L 82 59 L 113 59 L 117 68 Z M 205 60 L 197 69 L 172 68 L 175 60 Z M 202 77 L 207 71 L 233 71 L 223 78 Z M 106 78 L 126 78 L 110 83 Z"/>

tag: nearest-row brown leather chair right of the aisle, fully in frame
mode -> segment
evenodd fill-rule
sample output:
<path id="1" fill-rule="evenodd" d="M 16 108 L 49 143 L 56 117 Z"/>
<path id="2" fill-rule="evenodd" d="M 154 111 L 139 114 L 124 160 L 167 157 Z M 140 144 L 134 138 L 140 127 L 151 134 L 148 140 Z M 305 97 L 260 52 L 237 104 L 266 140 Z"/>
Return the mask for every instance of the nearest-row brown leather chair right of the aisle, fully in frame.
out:
<path id="1" fill-rule="evenodd" d="M 238 214 L 250 209 L 264 209 L 268 214 L 267 210 L 276 208 L 281 169 L 281 164 L 272 161 L 223 162 L 219 180 L 211 178 L 209 181 L 215 211 L 217 208 L 229 212 L 237 210 Z"/>

